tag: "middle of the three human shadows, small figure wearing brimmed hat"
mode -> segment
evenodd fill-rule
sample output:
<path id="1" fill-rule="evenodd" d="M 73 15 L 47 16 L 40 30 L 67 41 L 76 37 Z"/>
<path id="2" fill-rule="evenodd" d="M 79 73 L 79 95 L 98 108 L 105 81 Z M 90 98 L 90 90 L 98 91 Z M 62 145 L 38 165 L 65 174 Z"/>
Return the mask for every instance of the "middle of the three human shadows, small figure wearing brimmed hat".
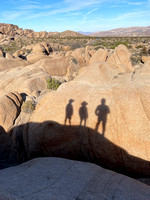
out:
<path id="1" fill-rule="evenodd" d="M 79 116 L 80 116 L 80 126 L 82 125 L 82 122 L 83 122 L 83 125 L 86 126 L 86 121 L 87 121 L 87 118 L 88 118 L 88 110 L 87 110 L 87 102 L 86 101 L 83 101 L 81 103 L 81 107 L 79 108 Z"/>

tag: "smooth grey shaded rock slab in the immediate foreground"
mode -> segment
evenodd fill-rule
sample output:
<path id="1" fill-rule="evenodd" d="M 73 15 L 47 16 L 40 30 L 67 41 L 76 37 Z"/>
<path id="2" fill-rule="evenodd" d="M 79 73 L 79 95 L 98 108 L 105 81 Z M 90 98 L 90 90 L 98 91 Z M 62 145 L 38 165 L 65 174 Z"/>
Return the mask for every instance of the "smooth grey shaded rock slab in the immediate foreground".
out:
<path id="1" fill-rule="evenodd" d="M 150 187 L 143 183 L 91 163 L 60 158 L 34 159 L 1 170 L 0 177 L 0 199 L 149 200 L 150 197 Z"/>

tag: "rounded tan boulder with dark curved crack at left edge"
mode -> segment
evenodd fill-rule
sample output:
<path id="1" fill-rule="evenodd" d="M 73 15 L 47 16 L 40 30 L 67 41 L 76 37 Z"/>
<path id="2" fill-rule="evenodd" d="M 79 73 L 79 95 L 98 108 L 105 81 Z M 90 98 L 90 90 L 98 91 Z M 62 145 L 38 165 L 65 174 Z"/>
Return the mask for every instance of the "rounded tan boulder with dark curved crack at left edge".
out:
<path id="1" fill-rule="evenodd" d="M 8 93 L 0 97 L 0 126 L 6 131 L 12 127 L 18 117 L 22 102 L 22 97 L 17 92 Z"/>

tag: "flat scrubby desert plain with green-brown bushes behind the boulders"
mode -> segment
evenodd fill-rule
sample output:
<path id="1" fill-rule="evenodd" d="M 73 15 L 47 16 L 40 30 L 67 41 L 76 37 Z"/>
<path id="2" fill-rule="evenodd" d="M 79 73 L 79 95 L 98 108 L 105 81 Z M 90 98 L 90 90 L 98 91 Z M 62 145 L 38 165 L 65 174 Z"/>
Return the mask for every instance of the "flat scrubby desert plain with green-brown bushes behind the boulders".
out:
<path id="1" fill-rule="evenodd" d="M 131 52 L 131 61 L 133 65 L 141 62 L 141 56 L 150 55 L 150 37 L 54 37 L 50 38 L 19 38 L 10 41 L 7 44 L 0 44 L 5 53 L 15 53 L 17 50 L 24 49 L 27 46 L 46 42 L 50 44 L 53 51 L 75 50 L 92 46 L 95 50 L 107 49 L 113 51 L 119 44 L 125 45 Z M 29 54 L 31 49 L 26 50 Z"/>

